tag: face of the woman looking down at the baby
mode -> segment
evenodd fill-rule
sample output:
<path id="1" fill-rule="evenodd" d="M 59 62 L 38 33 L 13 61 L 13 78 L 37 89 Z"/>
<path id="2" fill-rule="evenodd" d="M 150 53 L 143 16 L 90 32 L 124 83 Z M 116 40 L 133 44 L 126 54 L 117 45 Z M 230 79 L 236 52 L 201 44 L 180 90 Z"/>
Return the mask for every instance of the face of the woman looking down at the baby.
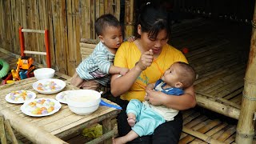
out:
<path id="1" fill-rule="evenodd" d="M 154 54 L 160 54 L 162 51 L 162 46 L 166 45 L 168 41 L 166 30 L 160 30 L 157 37 L 154 38 L 149 36 L 149 33 L 139 32 L 141 35 L 141 44 L 143 48 L 147 50 L 153 50 Z"/>

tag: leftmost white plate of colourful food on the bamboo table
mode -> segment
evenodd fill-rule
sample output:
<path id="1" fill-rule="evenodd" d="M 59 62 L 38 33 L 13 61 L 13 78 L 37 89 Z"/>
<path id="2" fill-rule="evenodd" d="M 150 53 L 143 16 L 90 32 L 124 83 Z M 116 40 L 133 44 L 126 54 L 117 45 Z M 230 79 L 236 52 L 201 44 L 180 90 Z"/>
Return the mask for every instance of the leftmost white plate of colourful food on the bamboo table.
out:
<path id="1" fill-rule="evenodd" d="M 22 93 L 26 94 L 25 95 L 25 100 L 22 98 Z M 6 101 L 10 102 L 10 103 L 24 103 L 27 101 L 30 101 L 34 98 L 36 98 L 36 94 L 34 94 L 34 92 L 30 91 L 30 90 L 16 90 L 16 91 L 12 91 L 9 94 L 6 94 Z"/>

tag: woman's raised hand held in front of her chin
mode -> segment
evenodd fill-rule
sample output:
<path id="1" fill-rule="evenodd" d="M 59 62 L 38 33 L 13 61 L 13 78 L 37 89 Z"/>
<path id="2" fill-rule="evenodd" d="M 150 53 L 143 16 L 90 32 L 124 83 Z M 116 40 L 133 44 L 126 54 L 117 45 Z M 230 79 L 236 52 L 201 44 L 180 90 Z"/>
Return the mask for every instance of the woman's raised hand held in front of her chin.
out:
<path id="1" fill-rule="evenodd" d="M 146 51 L 142 54 L 141 58 L 139 58 L 137 65 L 142 71 L 146 70 L 148 66 L 151 66 L 153 59 L 153 51 L 150 49 L 149 51 Z"/>

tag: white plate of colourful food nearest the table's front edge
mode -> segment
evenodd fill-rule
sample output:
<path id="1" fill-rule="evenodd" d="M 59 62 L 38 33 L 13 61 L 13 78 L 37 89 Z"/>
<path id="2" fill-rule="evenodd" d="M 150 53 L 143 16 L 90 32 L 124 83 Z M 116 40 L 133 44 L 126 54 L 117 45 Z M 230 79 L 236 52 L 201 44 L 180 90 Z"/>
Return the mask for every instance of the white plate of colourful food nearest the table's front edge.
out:
<path id="1" fill-rule="evenodd" d="M 42 99 L 44 99 L 46 101 L 43 102 L 43 104 L 39 104 L 38 101 L 40 101 L 40 100 L 42 101 Z M 35 104 L 35 106 L 30 106 L 31 102 L 33 102 Z M 54 106 L 53 106 L 52 102 L 54 102 Z M 35 109 L 35 107 L 38 107 L 39 109 L 42 107 L 46 107 L 46 109 L 48 109 L 50 106 L 53 106 L 54 110 L 47 112 L 46 114 L 33 114 L 33 111 L 38 111 Z M 56 101 L 54 98 L 36 98 L 34 100 L 25 102 L 21 106 L 21 110 L 22 110 L 22 113 L 29 115 L 31 117 L 43 117 L 43 116 L 51 115 L 51 114 L 58 112 L 58 110 L 60 110 L 61 107 L 62 107 L 62 105 L 58 101 Z"/>

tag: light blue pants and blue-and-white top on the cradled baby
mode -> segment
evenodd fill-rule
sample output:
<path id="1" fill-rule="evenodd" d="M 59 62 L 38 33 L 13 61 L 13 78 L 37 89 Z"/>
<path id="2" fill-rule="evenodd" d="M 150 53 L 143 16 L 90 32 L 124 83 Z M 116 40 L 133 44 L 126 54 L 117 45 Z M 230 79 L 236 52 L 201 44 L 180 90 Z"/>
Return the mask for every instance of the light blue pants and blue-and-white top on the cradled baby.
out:
<path id="1" fill-rule="evenodd" d="M 154 90 L 161 91 L 165 94 L 170 95 L 182 95 L 184 94 L 182 89 L 178 88 L 168 88 L 168 89 L 162 89 L 163 86 L 166 86 L 165 82 L 162 82 L 161 79 L 159 79 L 155 86 Z M 159 114 L 155 110 L 155 107 L 162 107 L 168 109 L 170 112 L 164 112 L 162 114 L 167 114 L 166 116 L 163 116 L 162 114 Z M 166 111 L 166 110 L 164 110 Z M 154 133 L 154 130 L 161 125 L 162 123 L 174 119 L 174 116 L 178 114 L 178 110 L 173 110 L 166 108 L 165 106 L 154 106 L 150 105 L 148 102 L 140 102 L 138 99 L 131 99 L 127 108 L 126 108 L 126 114 L 133 113 L 136 115 L 136 124 L 131 127 L 132 130 L 136 134 L 138 134 L 140 137 L 143 135 L 150 135 Z M 167 117 L 167 118 L 165 118 Z M 171 118 L 170 118 L 171 117 Z"/>

